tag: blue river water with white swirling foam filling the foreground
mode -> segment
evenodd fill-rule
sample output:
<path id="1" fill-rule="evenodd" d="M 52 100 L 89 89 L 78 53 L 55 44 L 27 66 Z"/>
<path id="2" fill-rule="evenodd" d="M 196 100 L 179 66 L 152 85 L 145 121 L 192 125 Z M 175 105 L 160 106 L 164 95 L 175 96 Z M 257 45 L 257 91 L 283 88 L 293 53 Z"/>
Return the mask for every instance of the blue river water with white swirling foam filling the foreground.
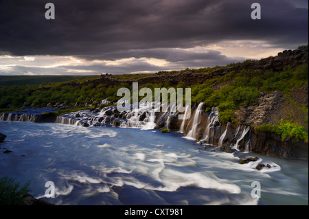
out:
<path id="1" fill-rule="evenodd" d="M 140 128 L 0 122 L 0 132 L 0 177 L 31 181 L 36 198 L 52 181 L 56 205 L 308 205 L 306 161 L 248 153 L 259 160 L 241 165 L 180 132 Z M 262 161 L 272 168 L 255 170 Z"/>

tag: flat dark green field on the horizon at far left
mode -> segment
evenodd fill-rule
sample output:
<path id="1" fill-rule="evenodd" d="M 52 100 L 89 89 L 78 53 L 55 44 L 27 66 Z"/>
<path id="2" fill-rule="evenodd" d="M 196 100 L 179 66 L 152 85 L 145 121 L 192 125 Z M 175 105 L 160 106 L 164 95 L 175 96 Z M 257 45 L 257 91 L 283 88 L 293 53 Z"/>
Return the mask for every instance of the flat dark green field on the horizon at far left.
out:
<path id="1" fill-rule="evenodd" d="M 85 78 L 100 78 L 100 76 L 0 76 L 0 86 L 47 84 Z"/>

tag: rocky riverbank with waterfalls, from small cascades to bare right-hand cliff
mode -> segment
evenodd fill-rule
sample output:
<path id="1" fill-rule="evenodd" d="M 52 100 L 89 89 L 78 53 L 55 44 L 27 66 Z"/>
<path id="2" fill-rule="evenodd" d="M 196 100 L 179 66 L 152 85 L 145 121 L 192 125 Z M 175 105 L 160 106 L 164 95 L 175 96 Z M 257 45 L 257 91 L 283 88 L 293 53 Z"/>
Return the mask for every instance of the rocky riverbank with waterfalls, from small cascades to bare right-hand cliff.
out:
<path id="1" fill-rule="evenodd" d="M 200 103 L 191 109 L 191 117 L 178 119 L 178 113 L 170 111 L 133 111 L 119 113 L 115 106 L 106 107 L 100 112 L 78 111 L 58 116 L 57 123 L 78 126 L 118 126 L 132 128 L 168 128 L 181 131 L 192 139 L 207 146 L 218 146 L 219 150 L 233 153 L 236 150 L 256 152 L 282 159 L 308 161 L 308 143 L 287 137 L 282 140 L 273 132 L 259 132 L 252 126 L 241 123 L 221 124 L 218 109 L 205 112 L 205 104 Z"/>

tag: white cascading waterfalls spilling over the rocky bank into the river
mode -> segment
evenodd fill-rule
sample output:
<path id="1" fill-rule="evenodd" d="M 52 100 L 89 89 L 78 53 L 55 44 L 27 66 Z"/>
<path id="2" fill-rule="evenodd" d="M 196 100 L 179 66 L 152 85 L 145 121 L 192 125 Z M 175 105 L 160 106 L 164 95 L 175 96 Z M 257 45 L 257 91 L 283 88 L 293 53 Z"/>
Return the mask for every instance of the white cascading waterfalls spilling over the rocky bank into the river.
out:
<path id="1" fill-rule="evenodd" d="M 196 135 L 201 134 L 201 143 L 214 144 L 218 142 L 218 146 L 221 147 L 222 143 L 225 141 L 227 136 L 227 129 L 230 128 L 231 124 L 227 123 L 225 131 L 218 136 L 218 131 L 221 132 L 221 124 L 219 120 L 218 108 L 212 107 L 211 113 L 207 117 L 207 122 L 205 127 L 201 127 L 202 124 L 202 115 L 203 111 L 203 102 L 198 104 L 194 113 L 192 108 L 188 106 L 185 107 L 185 112 L 183 113 L 183 120 L 181 121 L 181 126 L 179 128 L 180 132 L 185 132 L 187 127 L 191 129 L 187 132 L 186 137 L 189 139 L 196 139 Z M 159 108 L 155 108 L 159 107 Z M 119 127 L 130 127 L 130 128 L 141 128 L 141 129 L 154 129 L 156 127 L 170 128 L 170 123 L 172 119 L 175 119 L 173 122 L 177 122 L 177 114 L 179 113 L 179 106 L 175 104 L 168 105 L 166 112 L 161 112 L 160 108 L 163 108 L 161 104 L 156 102 L 139 104 L 139 107 L 134 111 L 122 112 L 117 111 L 116 106 L 108 106 L 102 109 L 102 111 L 77 111 L 73 113 L 67 113 L 65 115 L 60 115 L 56 117 L 56 123 L 60 124 L 70 124 L 76 126 L 119 126 Z M 187 118 L 188 115 L 193 114 L 192 117 Z M 0 113 L 0 121 L 16 121 L 16 122 L 38 122 L 41 118 L 40 114 L 30 114 L 30 113 Z M 160 126 L 158 126 L 160 122 Z M 173 123 L 175 124 L 175 123 Z M 204 130 L 201 133 L 201 130 Z M 236 143 L 231 144 L 231 148 L 239 150 L 240 142 L 247 141 L 244 146 L 244 151 L 249 152 L 251 150 L 250 137 L 247 140 L 246 135 L 250 130 L 249 126 L 238 126 L 236 128 L 235 134 L 233 137 L 236 139 Z M 215 136 L 216 135 L 216 136 Z M 216 140 L 215 140 L 216 137 Z M 219 138 L 219 139 L 217 139 Z M 235 142 L 235 141 L 234 141 Z"/>

